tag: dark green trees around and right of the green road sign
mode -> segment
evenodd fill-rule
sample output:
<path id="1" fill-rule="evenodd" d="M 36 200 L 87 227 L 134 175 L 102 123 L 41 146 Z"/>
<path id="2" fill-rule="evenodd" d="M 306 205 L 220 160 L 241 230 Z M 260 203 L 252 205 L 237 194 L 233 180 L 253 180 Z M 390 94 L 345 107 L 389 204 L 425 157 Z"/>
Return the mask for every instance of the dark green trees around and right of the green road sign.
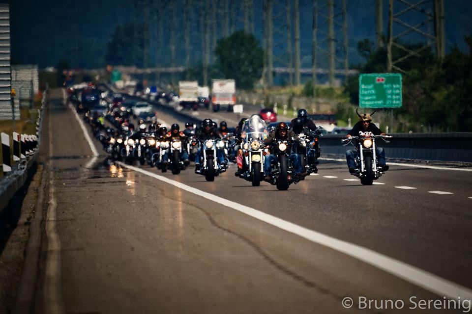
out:
<path id="1" fill-rule="evenodd" d="M 472 131 L 472 36 L 465 37 L 470 52 L 454 48 L 438 62 L 431 50 L 409 57 L 397 66 L 403 76 L 403 107 L 395 111 L 397 131 Z M 359 42 L 357 48 L 366 62 L 358 65 L 359 73 L 386 72 L 386 51 L 372 51 L 372 43 Z M 416 50 L 421 44 L 404 44 Z M 392 51 L 393 59 L 406 52 Z M 348 78 L 344 92 L 352 104 L 358 104 L 358 78 Z M 345 113 L 341 112 L 340 119 Z M 348 113 L 348 115 L 350 115 Z"/>

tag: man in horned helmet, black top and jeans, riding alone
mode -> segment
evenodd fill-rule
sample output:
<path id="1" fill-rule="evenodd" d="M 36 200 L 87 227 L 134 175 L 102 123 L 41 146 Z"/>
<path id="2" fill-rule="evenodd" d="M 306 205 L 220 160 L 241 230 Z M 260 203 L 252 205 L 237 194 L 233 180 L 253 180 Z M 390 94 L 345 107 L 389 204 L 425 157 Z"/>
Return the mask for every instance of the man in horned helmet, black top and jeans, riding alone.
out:
<path id="1" fill-rule="evenodd" d="M 353 136 L 358 136 L 359 132 L 372 132 L 374 135 L 385 135 L 375 124 L 372 123 L 372 117 L 368 113 L 359 115 L 359 122 L 357 122 L 353 129 L 349 131 L 346 135 L 346 138 L 350 139 Z M 382 168 L 382 171 L 387 171 L 388 166 L 385 163 L 385 152 L 383 148 L 376 146 L 375 154 L 379 158 L 379 165 Z M 357 150 L 350 149 L 346 152 L 346 161 L 348 163 L 349 173 L 355 173 L 355 157 L 357 155 Z"/>

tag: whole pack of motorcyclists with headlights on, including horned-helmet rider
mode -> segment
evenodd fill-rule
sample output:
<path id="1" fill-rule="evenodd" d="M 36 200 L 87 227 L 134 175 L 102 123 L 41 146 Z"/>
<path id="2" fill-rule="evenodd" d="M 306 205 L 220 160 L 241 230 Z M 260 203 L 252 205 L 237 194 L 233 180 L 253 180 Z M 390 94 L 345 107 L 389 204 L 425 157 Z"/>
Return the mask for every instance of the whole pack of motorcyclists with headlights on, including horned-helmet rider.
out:
<path id="1" fill-rule="evenodd" d="M 346 152 L 349 172 L 364 185 L 371 185 L 388 170 L 384 151 L 375 141 L 388 142 L 386 138 L 391 136 L 371 123 L 372 114 L 357 113 L 359 122 L 342 140 L 347 142 L 345 146 L 354 146 Z M 123 108 L 111 110 L 106 117 L 117 127 L 114 130 L 106 128 L 103 116 L 96 112 L 88 111 L 84 115 L 94 136 L 113 160 L 147 163 L 162 172 L 171 170 L 173 174 L 185 170 L 193 160 L 195 173 L 210 182 L 233 161 L 237 165 L 237 177 L 253 186 L 265 181 L 279 190 L 287 190 L 290 184 L 318 172 L 321 128 L 308 119 L 305 109 L 298 110 L 290 128 L 284 122 L 267 128 L 265 121 L 254 114 L 241 119 L 232 132 L 226 122 L 222 121 L 218 127 L 211 119 L 204 119 L 199 128 L 186 123 L 184 130 L 177 123 L 168 130 L 155 118 L 150 123 L 139 119 L 135 129 L 130 116 Z"/>

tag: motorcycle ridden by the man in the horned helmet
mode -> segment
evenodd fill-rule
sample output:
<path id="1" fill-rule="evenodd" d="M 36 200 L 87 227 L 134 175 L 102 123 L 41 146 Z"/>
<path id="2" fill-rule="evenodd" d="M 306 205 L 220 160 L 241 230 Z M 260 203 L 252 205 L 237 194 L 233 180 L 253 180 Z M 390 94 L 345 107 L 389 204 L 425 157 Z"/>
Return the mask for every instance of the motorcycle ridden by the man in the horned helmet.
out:
<path id="1" fill-rule="evenodd" d="M 343 146 L 352 144 L 357 150 L 357 156 L 355 157 L 356 171 L 353 173 L 354 176 L 360 179 L 362 185 L 372 185 L 374 180 L 379 179 L 383 175 L 382 168 L 378 165 L 376 156 L 376 138 L 382 138 L 385 143 L 390 141 L 385 138 L 391 138 L 390 135 L 374 135 L 372 132 L 359 132 L 359 136 L 352 136 L 351 138 L 345 138 L 342 141 L 347 142 Z M 357 146 L 352 143 L 352 140 L 357 140 Z"/>

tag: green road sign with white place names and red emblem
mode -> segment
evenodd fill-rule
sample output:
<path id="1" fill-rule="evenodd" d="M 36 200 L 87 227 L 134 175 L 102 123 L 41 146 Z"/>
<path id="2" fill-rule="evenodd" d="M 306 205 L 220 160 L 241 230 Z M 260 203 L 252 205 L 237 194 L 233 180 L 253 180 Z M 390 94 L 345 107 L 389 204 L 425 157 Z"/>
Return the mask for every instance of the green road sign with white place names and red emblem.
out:
<path id="1" fill-rule="evenodd" d="M 401 74 L 371 73 L 359 76 L 359 107 L 399 108 L 401 106 Z"/>

